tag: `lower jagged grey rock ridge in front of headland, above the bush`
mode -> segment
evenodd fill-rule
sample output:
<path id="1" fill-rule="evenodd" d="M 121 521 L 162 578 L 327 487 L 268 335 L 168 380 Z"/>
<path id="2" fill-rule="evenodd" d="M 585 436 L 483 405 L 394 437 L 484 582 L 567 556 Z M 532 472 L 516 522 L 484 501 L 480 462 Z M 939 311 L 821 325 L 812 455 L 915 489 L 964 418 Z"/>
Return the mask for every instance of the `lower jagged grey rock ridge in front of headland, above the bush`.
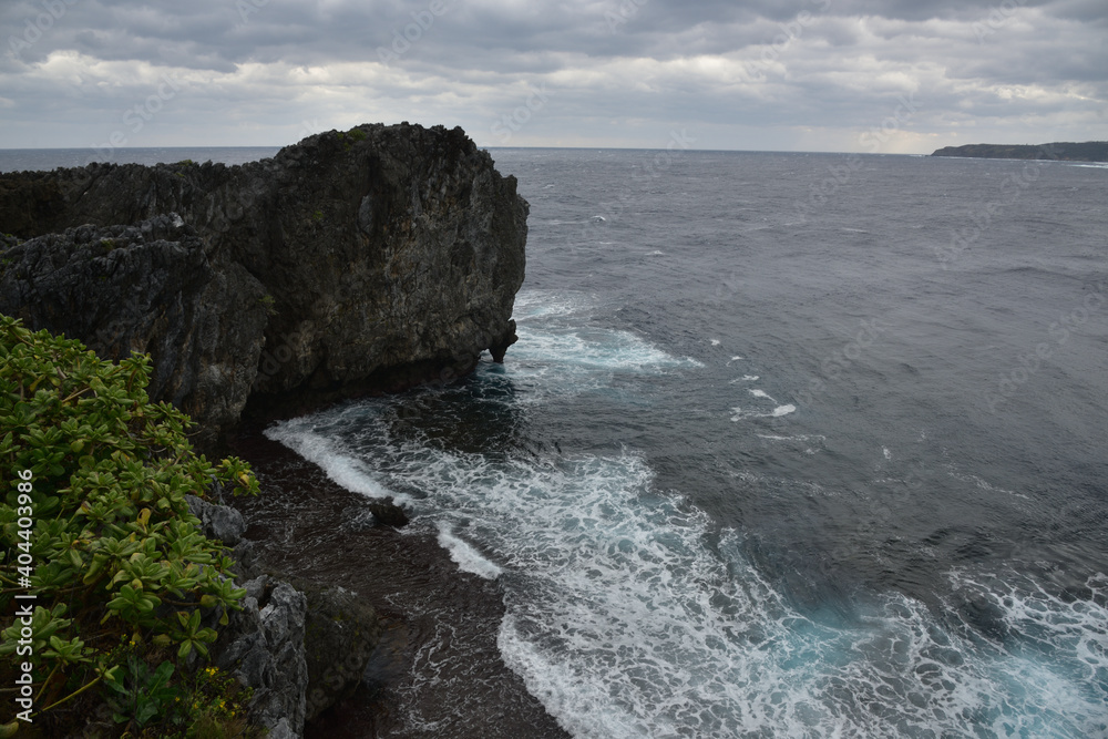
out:
<path id="1" fill-rule="evenodd" d="M 238 419 L 258 371 L 265 289 L 239 265 L 217 270 L 176 214 L 41 236 L 7 248 L 0 264 L 0 312 L 106 359 L 148 353 L 152 399 L 205 429 Z"/>

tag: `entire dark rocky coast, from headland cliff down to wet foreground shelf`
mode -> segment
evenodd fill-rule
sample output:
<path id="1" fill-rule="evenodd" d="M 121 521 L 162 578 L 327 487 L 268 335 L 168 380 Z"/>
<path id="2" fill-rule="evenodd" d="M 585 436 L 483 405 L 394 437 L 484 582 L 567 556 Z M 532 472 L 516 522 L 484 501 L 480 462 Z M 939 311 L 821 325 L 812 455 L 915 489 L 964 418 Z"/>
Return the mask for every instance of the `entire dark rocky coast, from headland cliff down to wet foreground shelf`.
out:
<path id="1" fill-rule="evenodd" d="M 270 737 L 566 736 L 499 655 L 494 583 L 258 433 L 502 361 L 527 211 L 461 129 L 407 123 L 233 167 L 0 174 L 0 312 L 104 359 L 148 353 L 151 400 L 197 422 L 201 451 L 254 465 L 258 500 L 193 506 L 247 591 L 215 661 Z"/>

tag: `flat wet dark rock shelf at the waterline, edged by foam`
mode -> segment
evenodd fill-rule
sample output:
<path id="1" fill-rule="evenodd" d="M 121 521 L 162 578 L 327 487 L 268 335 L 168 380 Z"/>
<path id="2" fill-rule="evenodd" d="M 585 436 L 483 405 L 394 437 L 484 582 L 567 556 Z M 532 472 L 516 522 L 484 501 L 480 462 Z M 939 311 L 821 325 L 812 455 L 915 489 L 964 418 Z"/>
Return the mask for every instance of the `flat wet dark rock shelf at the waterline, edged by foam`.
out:
<path id="1" fill-rule="evenodd" d="M 230 443 L 266 491 L 233 503 L 249 522 L 260 569 L 356 592 L 380 623 L 365 679 L 307 723 L 305 737 L 568 737 L 503 663 L 497 584 L 461 572 L 433 527 L 418 517 L 400 530 L 382 524 L 372 501 L 260 427 Z"/>

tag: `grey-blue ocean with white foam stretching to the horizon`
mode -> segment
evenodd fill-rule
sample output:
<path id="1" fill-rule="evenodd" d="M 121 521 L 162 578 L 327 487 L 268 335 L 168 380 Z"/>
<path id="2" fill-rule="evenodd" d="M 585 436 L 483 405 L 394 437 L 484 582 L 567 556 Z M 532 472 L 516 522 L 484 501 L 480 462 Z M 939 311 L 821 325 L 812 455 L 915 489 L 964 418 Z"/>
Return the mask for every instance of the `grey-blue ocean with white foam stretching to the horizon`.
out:
<path id="1" fill-rule="evenodd" d="M 1108 166 L 492 155 L 505 363 L 265 430 L 496 601 L 375 736 L 526 736 L 417 695 L 478 633 L 573 737 L 1108 736 Z"/>

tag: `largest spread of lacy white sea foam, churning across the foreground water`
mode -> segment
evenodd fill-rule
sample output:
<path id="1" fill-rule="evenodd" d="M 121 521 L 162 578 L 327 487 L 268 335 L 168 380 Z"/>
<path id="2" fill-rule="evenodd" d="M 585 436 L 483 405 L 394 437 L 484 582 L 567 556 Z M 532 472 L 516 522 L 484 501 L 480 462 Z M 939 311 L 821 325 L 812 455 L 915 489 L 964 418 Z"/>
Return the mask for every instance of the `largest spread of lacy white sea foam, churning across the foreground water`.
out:
<path id="1" fill-rule="evenodd" d="M 275 438 L 327 449 L 316 459 L 341 478 L 350 453 L 316 438 L 328 421 L 289 421 Z M 372 423 L 357 444 L 389 489 L 425 493 L 416 510 L 462 568 L 500 577 L 502 656 L 575 737 L 1108 730 L 1106 583 L 1092 584 L 1099 599 L 1064 602 L 954 578 L 1023 639 L 1004 645 L 897 594 L 859 603 L 849 625 L 822 622 L 762 579 L 738 533 L 712 544 L 707 516 L 655 491 L 642 455 L 486 458 L 397 444 Z"/>

